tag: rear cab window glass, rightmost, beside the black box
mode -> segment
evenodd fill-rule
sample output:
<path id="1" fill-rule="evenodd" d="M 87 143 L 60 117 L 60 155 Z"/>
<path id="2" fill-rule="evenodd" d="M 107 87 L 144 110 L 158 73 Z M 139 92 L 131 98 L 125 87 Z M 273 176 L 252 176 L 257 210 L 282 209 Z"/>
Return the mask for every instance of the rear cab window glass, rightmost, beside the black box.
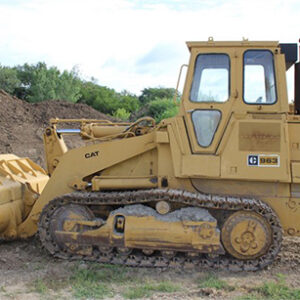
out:
<path id="1" fill-rule="evenodd" d="M 249 104 L 273 104 L 276 102 L 272 52 L 267 50 L 245 52 L 244 101 Z"/>

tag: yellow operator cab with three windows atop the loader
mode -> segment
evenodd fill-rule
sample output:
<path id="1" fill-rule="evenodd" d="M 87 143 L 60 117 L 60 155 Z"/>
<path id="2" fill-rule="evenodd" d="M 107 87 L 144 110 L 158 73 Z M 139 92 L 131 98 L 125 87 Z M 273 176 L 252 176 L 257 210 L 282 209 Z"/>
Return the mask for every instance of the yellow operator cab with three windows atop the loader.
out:
<path id="1" fill-rule="evenodd" d="M 193 153 L 216 153 L 233 114 L 289 111 L 285 71 L 297 60 L 297 45 L 283 45 L 187 42 L 191 56 L 181 112 Z"/>

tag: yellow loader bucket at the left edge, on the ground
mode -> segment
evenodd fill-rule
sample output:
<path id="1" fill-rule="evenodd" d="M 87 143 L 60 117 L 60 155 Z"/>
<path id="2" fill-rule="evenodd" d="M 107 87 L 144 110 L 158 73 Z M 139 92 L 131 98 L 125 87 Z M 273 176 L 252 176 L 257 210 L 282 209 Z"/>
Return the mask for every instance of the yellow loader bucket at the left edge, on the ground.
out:
<path id="1" fill-rule="evenodd" d="M 17 227 L 26 218 L 49 177 L 29 158 L 0 155 L 0 238 L 18 237 Z"/>

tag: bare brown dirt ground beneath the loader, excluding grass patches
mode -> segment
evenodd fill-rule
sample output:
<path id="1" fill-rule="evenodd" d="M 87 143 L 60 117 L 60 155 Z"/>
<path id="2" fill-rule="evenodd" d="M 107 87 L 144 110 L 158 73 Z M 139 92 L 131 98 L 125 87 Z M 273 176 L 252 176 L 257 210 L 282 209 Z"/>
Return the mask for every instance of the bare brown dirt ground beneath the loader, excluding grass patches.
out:
<path id="1" fill-rule="evenodd" d="M 126 280 L 131 278 L 138 281 L 143 278 L 144 283 L 151 282 L 155 285 L 167 281 L 178 287 L 178 290 L 174 292 L 153 292 L 146 297 L 147 299 L 255 299 L 243 297 L 249 296 L 249 293 L 263 283 L 276 282 L 278 276 L 284 278 L 289 288 L 300 287 L 299 253 L 300 238 L 285 238 L 282 251 L 273 265 L 266 270 L 248 273 L 129 267 L 118 269 L 120 267 L 116 267 L 117 273 L 125 272 L 123 274 L 128 278 L 118 277 L 117 275 L 120 274 L 115 273 L 116 277 L 110 277 L 109 281 L 108 276 L 111 276 L 111 273 L 103 273 L 106 277 L 103 277 L 102 281 L 112 287 L 114 292 L 106 296 L 102 294 L 98 296 L 99 298 L 123 299 L 125 295 L 125 298 L 130 299 L 126 297 L 122 289 L 124 290 L 124 284 L 133 287 L 136 284 L 132 281 L 128 283 Z M 74 293 L 73 285 L 76 285 L 76 282 L 70 281 L 70 278 L 78 270 L 84 270 L 88 274 L 89 270 L 101 272 L 110 269 L 101 264 L 95 266 L 95 264 L 55 259 L 40 249 L 37 239 L 2 243 L 0 245 L 0 299 L 88 299 L 89 297 L 85 297 L 84 293 L 76 294 L 76 290 Z M 225 282 L 225 287 L 221 289 L 217 286 L 199 287 L 201 278 L 212 272 L 219 282 Z M 81 284 L 83 287 L 86 283 L 81 282 Z M 98 284 L 101 284 L 101 280 Z M 228 286 L 230 288 L 227 288 Z M 290 299 L 299 299 L 297 295 L 295 297 Z M 131 297 L 133 298 L 139 297 Z"/>

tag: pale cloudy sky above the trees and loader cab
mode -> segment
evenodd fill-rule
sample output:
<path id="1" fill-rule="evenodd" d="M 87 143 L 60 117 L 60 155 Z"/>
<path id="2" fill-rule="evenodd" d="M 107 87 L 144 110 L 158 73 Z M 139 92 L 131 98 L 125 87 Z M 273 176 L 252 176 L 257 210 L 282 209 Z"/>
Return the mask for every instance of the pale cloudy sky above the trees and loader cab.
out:
<path id="1" fill-rule="evenodd" d="M 1 65 L 76 65 L 85 79 L 137 94 L 176 86 L 185 41 L 300 37 L 299 0 L 0 0 L 0 16 Z"/>

